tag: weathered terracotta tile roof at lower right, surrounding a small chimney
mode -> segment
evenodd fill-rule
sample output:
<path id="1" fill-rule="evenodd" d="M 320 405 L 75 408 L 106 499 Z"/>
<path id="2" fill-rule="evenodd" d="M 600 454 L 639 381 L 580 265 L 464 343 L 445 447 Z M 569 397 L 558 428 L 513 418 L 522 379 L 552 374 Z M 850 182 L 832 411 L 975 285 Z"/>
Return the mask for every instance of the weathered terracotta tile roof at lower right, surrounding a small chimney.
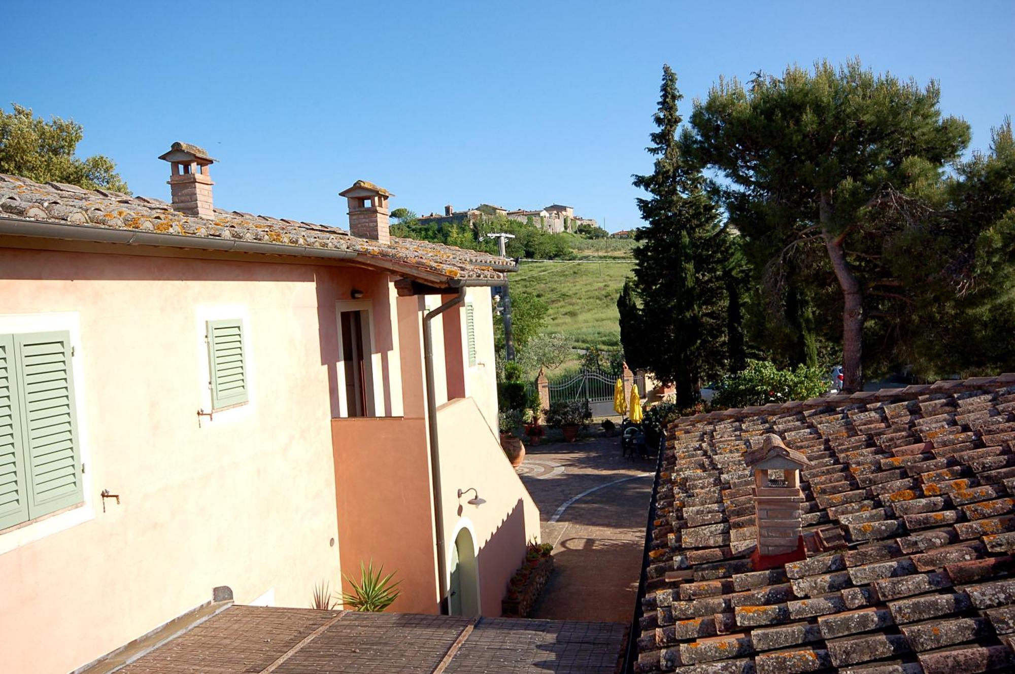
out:
<path id="1" fill-rule="evenodd" d="M 670 424 L 657 501 L 666 509 L 657 528 L 665 527 L 667 542 L 653 563 L 690 572 L 665 591 L 650 585 L 645 603 L 664 592 L 704 592 L 657 617 L 686 615 L 707 626 L 666 632 L 669 657 L 642 659 L 646 667 L 1015 668 L 1013 384 L 1015 375 L 939 382 Z M 801 471 L 805 540 L 825 532 L 848 549 L 821 553 L 812 545 L 807 559 L 754 568 L 744 453 L 770 432 L 812 464 Z M 737 633 L 716 629 L 717 615 Z M 652 629 L 638 641 L 642 655 L 663 646 Z"/>

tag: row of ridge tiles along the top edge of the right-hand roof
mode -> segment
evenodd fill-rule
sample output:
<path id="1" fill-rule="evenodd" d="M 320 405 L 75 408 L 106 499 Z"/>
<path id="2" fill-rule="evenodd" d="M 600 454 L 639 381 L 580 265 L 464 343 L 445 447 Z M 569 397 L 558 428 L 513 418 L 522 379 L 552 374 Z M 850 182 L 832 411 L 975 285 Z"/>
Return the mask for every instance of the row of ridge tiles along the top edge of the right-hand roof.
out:
<path id="1" fill-rule="evenodd" d="M 978 389 L 990 389 L 1015 384 L 1015 373 L 1003 373 L 994 377 L 971 377 L 964 380 L 939 380 L 934 384 L 912 384 L 901 389 L 880 389 L 878 391 L 858 391 L 852 394 L 820 396 L 808 400 L 791 400 L 785 403 L 768 403 L 751 407 L 731 407 L 729 409 L 700 412 L 681 416 L 668 427 L 686 425 L 699 421 L 739 420 L 759 414 L 793 414 L 822 407 L 845 407 L 855 404 L 869 404 L 894 400 L 916 400 L 933 393 L 964 393 Z"/>

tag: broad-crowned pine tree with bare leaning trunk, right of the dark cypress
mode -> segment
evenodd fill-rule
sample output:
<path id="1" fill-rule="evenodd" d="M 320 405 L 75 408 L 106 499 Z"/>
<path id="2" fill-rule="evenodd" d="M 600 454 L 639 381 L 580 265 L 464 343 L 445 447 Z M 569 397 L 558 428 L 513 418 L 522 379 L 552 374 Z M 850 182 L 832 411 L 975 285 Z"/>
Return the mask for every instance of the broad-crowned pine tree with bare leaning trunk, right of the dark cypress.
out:
<path id="1" fill-rule="evenodd" d="M 939 98 L 936 82 L 825 62 L 758 75 L 746 88 L 720 80 L 690 119 L 684 145 L 725 179 L 766 306 L 784 309 L 768 314 L 789 315 L 794 359 L 813 361 L 815 323 L 837 323 L 848 390 L 863 383 L 865 323 L 884 313 L 879 298 L 901 294 L 892 249 L 921 239 L 905 197 L 939 184 L 969 140 L 965 122 L 942 118 Z M 929 262 L 940 270 L 949 257 Z M 868 327 L 882 343 L 900 340 Z"/>

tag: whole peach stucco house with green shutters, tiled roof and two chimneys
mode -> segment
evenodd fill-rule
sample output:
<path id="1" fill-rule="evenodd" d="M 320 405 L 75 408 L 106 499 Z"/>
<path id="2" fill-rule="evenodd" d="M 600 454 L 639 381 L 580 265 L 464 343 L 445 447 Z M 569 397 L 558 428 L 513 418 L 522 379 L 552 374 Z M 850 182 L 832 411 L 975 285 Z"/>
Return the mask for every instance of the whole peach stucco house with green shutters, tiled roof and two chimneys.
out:
<path id="1" fill-rule="evenodd" d="M 499 614 L 539 536 L 496 433 L 510 261 L 392 239 L 369 183 L 346 232 L 161 158 L 172 203 L 0 176 L 0 671 L 82 668 L 214 588 L 307 607 L 370 559 L 393 610 Z"/>

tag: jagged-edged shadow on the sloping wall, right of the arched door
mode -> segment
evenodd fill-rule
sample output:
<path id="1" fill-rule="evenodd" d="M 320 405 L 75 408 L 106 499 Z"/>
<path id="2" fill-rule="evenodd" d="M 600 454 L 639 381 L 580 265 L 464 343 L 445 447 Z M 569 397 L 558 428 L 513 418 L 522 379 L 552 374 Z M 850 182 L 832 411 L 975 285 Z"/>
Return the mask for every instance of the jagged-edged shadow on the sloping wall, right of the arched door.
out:
<path id="1" fill-rule="evenodd" d="M 459 514 L 469 517 L 472 506 L 460 506 Z M 482 508 L 482 507 L 480 507 Z M 507 581 L 525 559 L 525 504 L 519 498 L 507 516 L 480 543 L 476 555 L 479 569 L 480 606 L 483 615 L 500 615 L 500 600 L 507 592 Z M 454 541 L 450 541 L 454 545 Z"/>

